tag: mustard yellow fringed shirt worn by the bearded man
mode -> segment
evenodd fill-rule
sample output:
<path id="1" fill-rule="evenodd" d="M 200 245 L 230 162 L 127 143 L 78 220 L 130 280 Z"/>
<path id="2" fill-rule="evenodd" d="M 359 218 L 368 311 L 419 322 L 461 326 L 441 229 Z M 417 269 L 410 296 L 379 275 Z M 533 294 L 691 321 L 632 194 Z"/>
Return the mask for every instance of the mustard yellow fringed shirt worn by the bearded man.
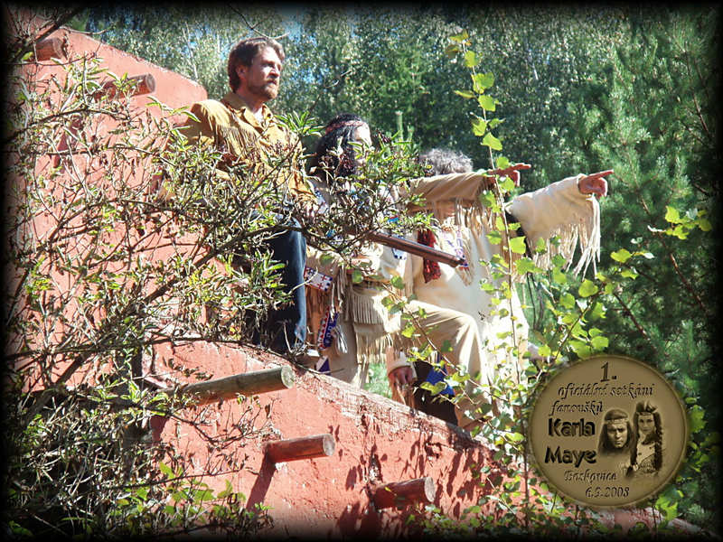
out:
<path id="1" fill-rule="evenodd" d="M 206 99 L 192 105 L 198 121 L 189 119 L 183 134 L 192 143 L 211 145 L 252 165 L 258 175 L 268 175 L 277 189 L 301 201 L 315 201 L 314 192 L 299 166 L 301 145 L 266 106 L 258 119 L 239 95 L 229 92 L 223 99 Z M 280 164 L 278 160 L 281 160 Z"/>

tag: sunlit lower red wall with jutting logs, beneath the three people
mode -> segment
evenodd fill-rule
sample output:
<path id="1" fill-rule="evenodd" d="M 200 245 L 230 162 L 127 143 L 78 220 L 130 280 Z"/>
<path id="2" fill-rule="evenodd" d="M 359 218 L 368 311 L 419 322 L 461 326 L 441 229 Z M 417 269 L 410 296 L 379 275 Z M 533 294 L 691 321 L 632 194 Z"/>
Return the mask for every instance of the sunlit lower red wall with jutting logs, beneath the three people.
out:
<path id="1" fill-rule="evenodd" d="M 170 376 L 170 371 L 164 375 L 164 362 L 169 359 L 202 369 L 214 378 L 290 365 L 268 353 L 240 347 L 209 343 L 165 346 L 156 350 L 153 366 L 148 367 L 156 378 Z M 223 480 L 228 479 L 235 491 L 248 497 L 249 506 L 257 502 L 271 506 L 278 528 L 324 537 L 360 530 L 369 536 L 399 535 L 405 532 L 404 519 L 412 510 L 376 509 L 371 494 L 381 483 L 430 476 L 435 482 L 435 503 L 457 517 L 489 491 L 472 480 L 470 466 L 494 464 L 492 451 L 456 433 L 445 422 L 336 378 L 296 367 L 295 373 L 293 388 L 259 396 L 258 410 L 269 409 L 268 420 L 265 416 L 257 420 L 258 426 L 267 424 L 265 435 L 236 451 L 244 457 L 243 467 L 207 481 L 221 490 Z M 244 405 L 224 401 L 196 406 L 186 417 L 213 435 L 222 435 L 238 424 Z M 321 434 L 333 436 L 335 449 L 329 457 L 274 464 L 264 455 L 267 442 Z M 219 467 L 221 454 L 216 453 L 212 460 L 191 425 L 168 420 L 156 437 L 194 458 L 196 472 L 211 465 Z M 501 465 L 495 465 L 493 471 L 501 472 Z"/>

